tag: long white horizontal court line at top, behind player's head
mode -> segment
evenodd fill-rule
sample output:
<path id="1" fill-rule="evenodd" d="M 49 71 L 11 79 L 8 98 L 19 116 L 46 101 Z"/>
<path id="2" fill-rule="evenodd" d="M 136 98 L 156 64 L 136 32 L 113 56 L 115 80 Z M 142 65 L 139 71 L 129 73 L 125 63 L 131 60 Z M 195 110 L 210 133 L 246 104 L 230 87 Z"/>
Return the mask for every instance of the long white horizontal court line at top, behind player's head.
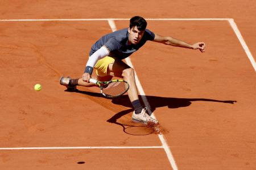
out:
<path id="1" fill-rule="evenodd" d="M 230 18 L 145 18 L 146 20 L 230 20 Z M 95 19 L 0 19 L 0 22 L 28 21 L 93 21 L 93 20 L 130 20 L 129 18 L 95 18 Z"/>

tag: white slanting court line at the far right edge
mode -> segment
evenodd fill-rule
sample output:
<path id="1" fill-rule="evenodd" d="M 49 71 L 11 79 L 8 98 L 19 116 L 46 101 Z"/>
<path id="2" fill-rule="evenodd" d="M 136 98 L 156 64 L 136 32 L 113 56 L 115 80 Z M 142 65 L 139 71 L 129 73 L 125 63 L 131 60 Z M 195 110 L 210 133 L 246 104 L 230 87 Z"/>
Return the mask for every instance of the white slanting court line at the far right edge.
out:
<path id="1" fill-rule="evenodd" d="M 238 40 L 240 41 L 243 49 L 245 50 L 247 57 L 249 58 L 249 60 L 251 62 L 251 65 L 253 65 L 253 68 L 256 72 L 256 63 L 255 63 L 254 57 L 253 57 L 253 55 L 251 55 L 250 49 L 246 45 L 245 40 L 243 40 L 241 32 L 238 30 L 237 24 L 234 22 L 234 19 L 229 19 L 229 23 L 230 23 L 230 26 L 233 28 L 235 34 L 237 35 Z"/>

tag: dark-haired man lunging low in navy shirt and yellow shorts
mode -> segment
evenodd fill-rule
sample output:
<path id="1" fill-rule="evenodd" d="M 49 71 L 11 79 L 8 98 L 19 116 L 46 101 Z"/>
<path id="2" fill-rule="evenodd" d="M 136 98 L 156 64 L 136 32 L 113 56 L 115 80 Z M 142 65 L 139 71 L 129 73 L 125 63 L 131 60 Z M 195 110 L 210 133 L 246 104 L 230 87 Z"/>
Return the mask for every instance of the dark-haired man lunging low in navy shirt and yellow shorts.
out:
<path id="1" fill-rule="evenodd" d="M 113 76 L 121 77 L 130 85 L 127 93 L 134 107 L 132 120 L 143 124 L 148 122 L 158 123 L 146 113 L 146 108 L 143 109 L 138 98 L 134 70 L 122 59 L 137 51 L 147 40 L 176 47 L 199 49 L 201 52 L 204 52 L 205 43 L 199 42 L 191 45 L 170 36 L 154 34 L 154 32 L 147 30 L 146 26 L 147 22 L 144 18 L 134 16 L 130 19 L 129 28 L 102 36 L 92 45 L 82 78 L 61 77 L 60 84 L 67 86 L 67 88 L 75 88 L 77 85 L 94 86 L 92 82 L 89 82 L 93 68 L 96 69 L 97 77 L 95 79 L 98 81 L 109 81 Z"/>

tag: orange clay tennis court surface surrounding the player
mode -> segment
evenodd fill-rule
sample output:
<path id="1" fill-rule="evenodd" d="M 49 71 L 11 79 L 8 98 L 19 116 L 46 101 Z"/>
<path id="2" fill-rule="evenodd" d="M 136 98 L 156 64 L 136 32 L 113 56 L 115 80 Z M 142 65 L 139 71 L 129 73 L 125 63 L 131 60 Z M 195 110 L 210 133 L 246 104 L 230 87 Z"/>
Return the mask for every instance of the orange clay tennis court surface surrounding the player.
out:
<path id="1" fill-rule="evenodd" d="M 255 169 L 255 2 L 3 1 L 0 14 L 0 169 Z M 147 42 L 124 60 L 161 134 L 131 123 L 127 94 L 59 84 L 134 15 L 207 44 Z"/>

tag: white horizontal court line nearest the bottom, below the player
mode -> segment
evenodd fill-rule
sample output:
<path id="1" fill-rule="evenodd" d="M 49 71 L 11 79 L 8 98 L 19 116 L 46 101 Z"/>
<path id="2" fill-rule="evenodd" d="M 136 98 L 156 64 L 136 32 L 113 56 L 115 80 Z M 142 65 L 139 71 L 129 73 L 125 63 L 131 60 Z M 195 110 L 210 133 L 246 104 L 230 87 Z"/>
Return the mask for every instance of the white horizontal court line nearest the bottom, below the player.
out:
<path id="1" fill-rule="evenodd" d="M 78 150 L 78 149 L 148 149 L 163 148 L 163 146 L 131 146 L 131 147 L 19 147 L 19 148 L 0 148 L 0 150 Z"/>

